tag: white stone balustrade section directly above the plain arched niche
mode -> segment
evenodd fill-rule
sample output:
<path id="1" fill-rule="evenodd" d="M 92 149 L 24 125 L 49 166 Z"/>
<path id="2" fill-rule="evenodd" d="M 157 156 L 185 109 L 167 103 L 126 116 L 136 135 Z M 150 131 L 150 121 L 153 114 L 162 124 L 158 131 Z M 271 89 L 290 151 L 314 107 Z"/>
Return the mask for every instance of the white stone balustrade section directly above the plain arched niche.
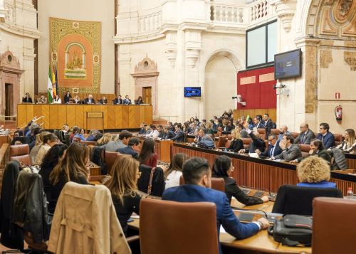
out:
<path id="1" fill-rule="evenodd" d="M 244 6 L 211 4 L 210 19 L 219 23 L 245 23 Z"/>

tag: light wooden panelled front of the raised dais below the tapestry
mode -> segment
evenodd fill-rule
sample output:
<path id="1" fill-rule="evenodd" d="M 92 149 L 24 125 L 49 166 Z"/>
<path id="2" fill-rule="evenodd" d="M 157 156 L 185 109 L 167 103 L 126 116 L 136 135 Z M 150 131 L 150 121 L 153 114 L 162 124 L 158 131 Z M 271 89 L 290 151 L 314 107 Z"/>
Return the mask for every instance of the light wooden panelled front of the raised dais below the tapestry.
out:
<path id="1" fill-rule="evenodd" d="M 19 104 L 17 127 L 43 115 L 38 122 L 44 129 L 62 129 L 64 124 L 86 127 L 87 112 L 103 112 L 104 129 L 138 129 L 142 122 L 152 124 L 152 105 L 76 105 L 76 104 Z"/>

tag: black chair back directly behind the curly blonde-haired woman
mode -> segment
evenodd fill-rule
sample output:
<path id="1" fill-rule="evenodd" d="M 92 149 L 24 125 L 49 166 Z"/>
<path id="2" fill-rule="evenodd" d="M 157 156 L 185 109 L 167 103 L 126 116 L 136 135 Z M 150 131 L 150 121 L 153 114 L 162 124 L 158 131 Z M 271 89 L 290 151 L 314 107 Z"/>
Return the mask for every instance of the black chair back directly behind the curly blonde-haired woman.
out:
<path id="1" fill-rule="evenodd" d="M 342 198 L 340 189 L 283 185 L 279 187 L 272 213 L 312 216 L 313 199 L 318 196 Z"/>

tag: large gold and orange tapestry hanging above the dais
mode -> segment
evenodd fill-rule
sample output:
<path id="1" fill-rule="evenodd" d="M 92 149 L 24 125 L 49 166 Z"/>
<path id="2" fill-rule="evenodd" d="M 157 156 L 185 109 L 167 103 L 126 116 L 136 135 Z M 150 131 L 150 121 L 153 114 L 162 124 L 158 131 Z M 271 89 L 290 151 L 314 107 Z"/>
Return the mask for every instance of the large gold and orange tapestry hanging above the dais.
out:
<path id="1" fill-rule="evenodd" d="M 50 18 L 50 33 L 60 92 L 99 92 L 101 23 Z"/>

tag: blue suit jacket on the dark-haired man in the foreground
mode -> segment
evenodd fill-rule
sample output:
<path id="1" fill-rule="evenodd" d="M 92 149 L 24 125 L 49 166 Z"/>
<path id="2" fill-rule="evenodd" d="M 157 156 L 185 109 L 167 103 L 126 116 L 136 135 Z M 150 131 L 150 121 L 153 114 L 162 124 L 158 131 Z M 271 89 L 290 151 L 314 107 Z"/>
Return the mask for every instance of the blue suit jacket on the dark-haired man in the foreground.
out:
<path id="1" fill-rule="evenodd" d="M 212 202 L 216 205 L 216 227 L 218 238 L 220 226 L 222 225 L 227 233 L 237 239 L 253 236 L 259 230 L 256 223 L 240 223 L 231 209 L 229 199 L 226 194 L 202 186 L 185 184 L 166 189 L 162 195 L 163 200 L 178 202 Z M 221 249 L 220 249 L 221 253 Z"/>

